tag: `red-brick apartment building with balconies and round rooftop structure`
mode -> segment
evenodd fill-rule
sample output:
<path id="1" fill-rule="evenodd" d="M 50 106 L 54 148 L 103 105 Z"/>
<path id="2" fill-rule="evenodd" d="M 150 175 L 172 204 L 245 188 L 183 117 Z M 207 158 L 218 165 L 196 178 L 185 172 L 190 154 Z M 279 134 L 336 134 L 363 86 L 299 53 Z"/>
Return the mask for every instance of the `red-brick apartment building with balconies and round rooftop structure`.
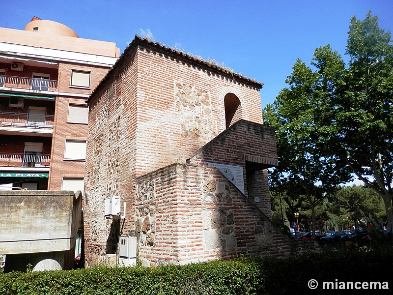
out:
<path id="1" fill-rule="evenodd" d="M 118 57 L 54 21 L 0 28 L 0 189 L 84 191 L 86 99 Z"/>

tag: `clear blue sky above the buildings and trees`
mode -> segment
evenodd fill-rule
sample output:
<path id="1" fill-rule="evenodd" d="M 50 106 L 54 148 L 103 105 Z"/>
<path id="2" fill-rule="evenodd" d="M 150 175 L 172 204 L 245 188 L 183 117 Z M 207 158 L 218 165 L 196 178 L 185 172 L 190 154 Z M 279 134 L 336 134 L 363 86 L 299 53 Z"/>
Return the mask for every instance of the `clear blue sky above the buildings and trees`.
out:
<path id="1" fill-rule="evenodd" d="M 81 38 L 115 42 L 124 51 L 136 34 L 224 62 L 258 82 L 262 108 L 286 87 L 297 58 L 306 63 L 330 44 L 344 58 L 350 18 L 369 10 L 393 29 L 392 0 L 0 0 L 0 27 L 24 29 L 36 16 Z M 0 49 L 1 50 L 1 49 Z"/>

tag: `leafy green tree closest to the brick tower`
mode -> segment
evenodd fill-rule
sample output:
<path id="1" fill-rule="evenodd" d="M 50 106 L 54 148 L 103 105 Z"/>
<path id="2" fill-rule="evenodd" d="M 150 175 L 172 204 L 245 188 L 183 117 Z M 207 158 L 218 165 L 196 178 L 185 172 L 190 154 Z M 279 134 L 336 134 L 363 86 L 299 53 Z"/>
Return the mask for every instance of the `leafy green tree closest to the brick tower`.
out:
<path id="1" fill-rule="evenodd" d="M 274 188 L 304 196 L 311 209 L 312 231 L 315 231 L 315 207 L 339 183 L 349 179 L 345 165 L 337 165 L 321 141 L 318 105 L 329 102 L 336 95 L 336 82 L 341 81 L 344 63 L 330 46 L 318 48 L 313 63 L 316 71 L 298 59 L 291 76 L 273 104 L 264 109 L 265 124 L 276 129 L 280 166 L 270 174 Z M 327 130 L 325 130 L 327 129 Z M 323 128 L 331 133 L 332 128 Z"/>

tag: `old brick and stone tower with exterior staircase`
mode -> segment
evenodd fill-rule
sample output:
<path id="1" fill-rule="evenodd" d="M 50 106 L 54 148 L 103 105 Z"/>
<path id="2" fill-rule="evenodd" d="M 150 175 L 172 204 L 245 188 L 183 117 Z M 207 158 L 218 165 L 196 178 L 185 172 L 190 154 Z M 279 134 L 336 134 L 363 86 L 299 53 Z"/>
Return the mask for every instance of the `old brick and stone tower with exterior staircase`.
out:
<path id="1" fill-rule="evenodd" d="M 88 99 L 87 266 L 119 236 L 137 237 L 146 266 L 293 250 L 270 220 L 262 85 L 135 37 Z M 104 216 L 114 196 L 123 216 Z"/>

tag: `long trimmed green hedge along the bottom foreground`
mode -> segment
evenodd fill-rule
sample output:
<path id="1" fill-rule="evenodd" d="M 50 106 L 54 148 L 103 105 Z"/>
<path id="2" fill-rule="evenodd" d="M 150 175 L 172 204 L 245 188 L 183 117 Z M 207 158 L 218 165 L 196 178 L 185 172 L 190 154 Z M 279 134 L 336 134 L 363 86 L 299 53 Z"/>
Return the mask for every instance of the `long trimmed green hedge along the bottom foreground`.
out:
<path id="1" fill-rule="evenodd" d="M 388 282 L 393 248 L 329 249 L 284 258 L 234 259 L 185 266 L 108 267 L 0 274 L 7 295 L 248 295 L 342 294 L 310 290 L 308 282 Z M 386 287 L 386 285 L 385 285 Z M 361 294 L 362 290 L 357 294 Z M 352 292 L 355 292 L 352 291 Z M 360 291 L 360 292 L 359 292 Z M 365 290 L 363 290 L 364 292 Z M 380 290 L 379 294 L 388 294 Z M 363 293 L 364 294 L 364 293 Z"/>

